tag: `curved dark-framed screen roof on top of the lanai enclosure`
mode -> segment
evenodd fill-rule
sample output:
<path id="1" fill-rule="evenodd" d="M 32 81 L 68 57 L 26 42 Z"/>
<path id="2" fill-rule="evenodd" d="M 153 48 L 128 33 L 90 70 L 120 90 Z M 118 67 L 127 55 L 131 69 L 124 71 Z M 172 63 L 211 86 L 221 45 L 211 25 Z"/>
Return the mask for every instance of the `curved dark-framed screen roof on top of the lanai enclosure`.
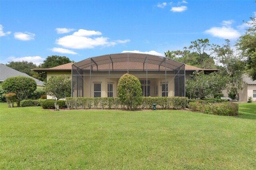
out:
<path id="1" fill-rule="evenodd" d="M 101 55 L 84 59 L 82 61 L 74 63 L 73 66 L 81 70 L 90 70 L 91 66 L 92 71 L 163 71 L 165 69 L 167 71 L 173 71 L 181 68 L 185 69 L 184 63 L 180 63 L 167 57 L 142 53 L 116 53 Z"/>

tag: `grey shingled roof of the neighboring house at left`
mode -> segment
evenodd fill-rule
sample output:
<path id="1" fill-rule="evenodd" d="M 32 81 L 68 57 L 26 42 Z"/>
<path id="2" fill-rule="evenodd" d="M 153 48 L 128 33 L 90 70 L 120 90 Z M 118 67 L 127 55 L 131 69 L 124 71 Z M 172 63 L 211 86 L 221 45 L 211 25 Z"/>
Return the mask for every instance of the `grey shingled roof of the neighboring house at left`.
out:
<path id="1" fill-rule="evenodd" d="M 5 81 L 9 77 L 20 76 L 20 75 L 34 79 L 36 81 L 36 85 L 40 85 L 40 86 L 44 85 L 43 81 L 35 79 L 34 77 L 27 75 L 26 73 L 22 73 L 20 71 L 7 67 L 6 65 L 0 64 L 0 82 Z"/>

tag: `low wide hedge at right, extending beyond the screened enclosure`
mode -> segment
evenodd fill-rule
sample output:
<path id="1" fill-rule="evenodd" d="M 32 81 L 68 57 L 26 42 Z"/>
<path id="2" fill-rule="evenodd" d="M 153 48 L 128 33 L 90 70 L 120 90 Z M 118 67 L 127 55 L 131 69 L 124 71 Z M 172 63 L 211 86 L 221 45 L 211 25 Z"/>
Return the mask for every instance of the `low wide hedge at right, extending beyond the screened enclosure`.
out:
<path id="1" fill-rule="evenodd" d="M 199 103 L 190 102 L 188 108 L 191 111 L 199 111 L 210 115 L 235 116 L 238 115 L 238 104 L 223 102 L 223 103 Z"/>

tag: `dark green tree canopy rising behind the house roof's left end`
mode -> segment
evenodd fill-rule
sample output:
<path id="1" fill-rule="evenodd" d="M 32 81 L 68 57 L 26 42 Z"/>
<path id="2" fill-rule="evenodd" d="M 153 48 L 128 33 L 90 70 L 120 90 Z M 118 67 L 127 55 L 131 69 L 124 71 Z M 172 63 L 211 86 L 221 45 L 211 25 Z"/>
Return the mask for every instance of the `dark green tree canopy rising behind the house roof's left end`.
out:
<path id="1" fill-rule="evenodd" d="M 52 55 L 48 56 L 44 62 L 39 65 L 40 68 L 51 68 L 51 67 L 56 67 L 59 65 L 71 63 L 74 61 L 71 61 L 68 57 L 66 56 L 59 56 L 59 55 Z"/>

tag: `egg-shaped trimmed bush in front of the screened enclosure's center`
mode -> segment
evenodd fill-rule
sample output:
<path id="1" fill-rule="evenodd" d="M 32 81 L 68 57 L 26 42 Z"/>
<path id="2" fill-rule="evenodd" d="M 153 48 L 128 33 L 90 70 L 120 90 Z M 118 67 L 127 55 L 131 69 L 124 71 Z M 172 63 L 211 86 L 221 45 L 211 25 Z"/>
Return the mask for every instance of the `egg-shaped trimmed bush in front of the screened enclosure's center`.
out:
<path id="1" fill-rule="evenodd" d="M 118 81 L 118 97 L 128 109 L 136 109 L 142 103 L 141 84 L 137 77 L 124 74 Z"/>

